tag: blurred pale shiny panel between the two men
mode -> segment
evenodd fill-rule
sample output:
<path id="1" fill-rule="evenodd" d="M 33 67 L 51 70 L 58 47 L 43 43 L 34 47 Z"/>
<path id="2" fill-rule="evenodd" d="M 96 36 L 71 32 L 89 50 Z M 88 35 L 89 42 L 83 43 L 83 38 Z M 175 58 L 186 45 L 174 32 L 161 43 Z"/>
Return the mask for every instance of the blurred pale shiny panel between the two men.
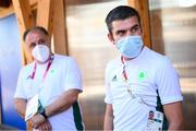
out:
<path id="1" fill-rule="evenodd" d="M 69 52 L 82 70 L 84 92 L 81 97 L 87 130 L 101 130 L 105 115 L 105 67 L 117 56 L 107 38 L 105 17 L 125 0 L 76 2 L 68 5 Z M 98 0 L 94 0 L 98 1 Z"/>

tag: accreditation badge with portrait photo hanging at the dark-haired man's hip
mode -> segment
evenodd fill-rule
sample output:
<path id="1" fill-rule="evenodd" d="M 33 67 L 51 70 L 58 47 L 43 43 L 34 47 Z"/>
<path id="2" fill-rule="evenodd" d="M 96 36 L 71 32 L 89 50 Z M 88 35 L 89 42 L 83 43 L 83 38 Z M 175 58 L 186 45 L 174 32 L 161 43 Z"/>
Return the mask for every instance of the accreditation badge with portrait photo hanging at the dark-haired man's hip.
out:
<path id="1" fill-rule="evenodd" d="M 148 114 L 148 131 L 161 131 L 163 123 L 163 114 L 157 110 L 150 110 Z"/>

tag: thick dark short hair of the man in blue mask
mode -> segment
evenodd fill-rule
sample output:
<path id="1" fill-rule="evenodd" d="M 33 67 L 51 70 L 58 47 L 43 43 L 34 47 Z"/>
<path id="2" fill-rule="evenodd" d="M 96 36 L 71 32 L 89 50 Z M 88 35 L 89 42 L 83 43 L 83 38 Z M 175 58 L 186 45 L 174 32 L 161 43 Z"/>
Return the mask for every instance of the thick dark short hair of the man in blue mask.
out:
<path id="1" fill-rule="evenodd" d="M 119 5 L 114 9 L 112 9 L 105 22 L 107 24 L 107 27 L 108 27 L 108 31 L 111 33 L 112 32 L 112 22 L 115 21 L 115 20 L 125 20 L 127 17 L 131 17 L 131 16 L 136 16 L 138 22 L 139 22 L 139 25 L 140 25 L 140 16 L 138 14 L 138 12 L 132 8 L 132 7 L 128 7 L 128 5 Z"/>

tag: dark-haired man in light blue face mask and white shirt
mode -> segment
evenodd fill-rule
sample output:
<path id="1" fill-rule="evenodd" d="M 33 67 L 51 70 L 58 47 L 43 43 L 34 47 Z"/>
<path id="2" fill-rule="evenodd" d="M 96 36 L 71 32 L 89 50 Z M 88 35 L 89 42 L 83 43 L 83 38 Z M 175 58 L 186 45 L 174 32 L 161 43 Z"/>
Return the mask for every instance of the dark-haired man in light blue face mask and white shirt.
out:
<path id="1" fill-rule="evenodd" d="M 179 75 L 166 56 L 144 46 L 138 12 L 131 7 L 117 7 L 108 13 L 106 24 L 108 38 L 120 57 L 106 68 L 103 129 L 182 129 Z M 154 112 L 152 120 L 148 117 L 150 112 Z"/>

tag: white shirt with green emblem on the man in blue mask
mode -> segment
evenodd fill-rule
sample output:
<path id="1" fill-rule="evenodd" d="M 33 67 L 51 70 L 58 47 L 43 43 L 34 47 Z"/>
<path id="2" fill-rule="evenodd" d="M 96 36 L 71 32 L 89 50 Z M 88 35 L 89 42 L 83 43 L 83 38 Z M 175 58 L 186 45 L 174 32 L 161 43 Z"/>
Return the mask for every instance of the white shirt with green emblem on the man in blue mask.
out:
<path id="1" fill-rule="evenodd" d="M 106 69 L 105 102 L 112 104 L 114 130 L 145 130 L 148 112 L 157 106 L 157 90 L 162 105 L 183 100 L 179 75 L 167 57 L 144 47 L 137 58 L 124 64 L 135 98 L 123 81 L 121 58 L 110 61 Z"/>

